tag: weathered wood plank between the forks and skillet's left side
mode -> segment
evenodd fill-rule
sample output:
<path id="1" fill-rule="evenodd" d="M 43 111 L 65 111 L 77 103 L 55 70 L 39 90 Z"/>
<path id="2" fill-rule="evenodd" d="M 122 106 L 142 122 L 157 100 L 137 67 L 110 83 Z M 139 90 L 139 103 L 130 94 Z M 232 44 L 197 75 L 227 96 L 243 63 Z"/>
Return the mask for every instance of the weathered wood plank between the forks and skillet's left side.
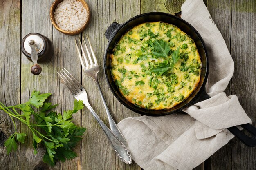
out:
<path id="1" fill-rule="evenodd" d="M 137 116 L 129 109 L 125 108 L 115 99 L 108 88 L 103 75 L 103 55 L 108 44 L 104 33 L 112 22 L 123 23 L 129 18 L 139 14 L 139 1 L 119 1 L 119 0 L 94 0 L 88 1 L 91 9 L 92 18 L 88 28 L 83 35 L 88 34 L 94 48 L 99 66 L 101 68 L 98 79 L 106 97 L 106 102 L 112 112 L 114 120 L 119 122 L 130 116 Z M 82 73 L 83 86 L 88 92 L 89 102 L 96 113 L 108 125 L 108 119 L 103 107 L 97 86 L 91 77 Z M 125 165 L 117 158 L 114 150 L 103 131 L 92 117 L 90 112 L 85 109 L 82 112 L 82 126 L 88 128 L 82 142 L 82 169 L 83 170 L 124 170 L 140 169 L 135 163 Z"/>

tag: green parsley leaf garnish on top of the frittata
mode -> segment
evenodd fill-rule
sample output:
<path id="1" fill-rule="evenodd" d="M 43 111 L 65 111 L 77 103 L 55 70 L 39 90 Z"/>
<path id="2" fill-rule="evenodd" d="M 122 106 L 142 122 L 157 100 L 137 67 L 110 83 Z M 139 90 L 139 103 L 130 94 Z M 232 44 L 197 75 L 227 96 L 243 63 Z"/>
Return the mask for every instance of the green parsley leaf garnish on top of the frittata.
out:
<path id="1" fill-rule="evenodd" d="M 151 52 L 155 57 L 163 57 L 165 60 L 156 66 L 151 68 L 150 71 L 156 73 L 157 75 L 162 75 L 171 68 L 175 68 L 175 63 L 180 60 L 180 46 L 175 50 L 171 51 L 171 46 L 163 39 L 153 42 L 153 51 Z M 169 57 L 171 55 L 171 58 Z M 177 68 L 175 68 L 177 69 Z"/>

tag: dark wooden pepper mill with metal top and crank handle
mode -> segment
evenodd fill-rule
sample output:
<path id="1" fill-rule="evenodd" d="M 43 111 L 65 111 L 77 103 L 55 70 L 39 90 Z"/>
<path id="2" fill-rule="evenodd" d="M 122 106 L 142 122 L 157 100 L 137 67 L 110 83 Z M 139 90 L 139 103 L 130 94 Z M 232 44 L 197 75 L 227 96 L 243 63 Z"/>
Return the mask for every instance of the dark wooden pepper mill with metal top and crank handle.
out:
<path id="1" fill-rule="evenodd" d="M 21 51 L 29 61 L 34 63 L 31 67 L 31 73 L 34 75 L 39 75 L 42 72 L 38 63 L 47 62 L 54 53 L 52 42 L 39 33 L 26 35 L 21 42 Z"/>

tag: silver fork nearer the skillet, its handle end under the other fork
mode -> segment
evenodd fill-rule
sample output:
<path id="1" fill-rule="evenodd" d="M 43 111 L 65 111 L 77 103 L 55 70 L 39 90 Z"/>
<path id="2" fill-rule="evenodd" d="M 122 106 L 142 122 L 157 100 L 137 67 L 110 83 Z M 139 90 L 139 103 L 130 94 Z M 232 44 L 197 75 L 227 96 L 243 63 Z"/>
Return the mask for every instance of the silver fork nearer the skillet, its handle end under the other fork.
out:
<path id="1" fill-rule="evenodd" d="M 83 70 L 84 70 L 85 74 L 91 76 L 91 77 L 94 79 L 94 81 L 96 82 L 96 84 L 97 84 L 97 87 L 98 87 L 98 89 L 99 89 L 99 93 L 100 93 L 100 95 L 101 95 L 101 99 L 102 99 L 102 101 L 103 101 L 103 105 L 104 105 L 104 107 L 105 107 L 105 109 L 106 109 L 106 112 L 107 112 L 108 122 L 109 122 L 109 124 L 110 124 L 110 129 L 111 129 L 112 132 L 116 135 L 116 137 L 117 137 L 125 146 L 127 146 L 126 140 L 124 139 L 124 136 L 122 135 L 122 133 L 120 132 L 119 128 L 117 127 L 117 124 L 116 124 L 115 121 L 113 120 L 113 118 L 112 118 L 112 116 L 111 116 L 111 113 L 110 113 L 110 110 L 109 110 L 109 108 L 108 108 L 108 105 L 107 105 L 107 103 L 106 103 L 106 101 L 105 101 L 105 98 L 104 98 L 104 96 L 103 96 L 103 94 L 102 94 L 101 87 L 99 86 L 99 82 L 98 82 L 98 79 L 97 79 L 97 75 L 98 75 L 98 72 L 99 72 L 99 65 L 98 65 L 98 63 L 97 63 L 97 59 L 96 59 L 95 54 L 94 54 L 94 51 L 93 51 L 93 49 L 92 49 L 91 42 L 90 42 L 90 40 L 89 40 L 89 38 L 88 38 L 87 35 L 86 35 L 86 37 L 87 37 L 88 42 L 89 42 L 90 51 L 91 51 L 91 53 L 92 53 L 92 57 L 93 57 L 94 63 L 92 62 L 92 57 L 91 57 L 90 52 L 89 52 L 89 50 L 88 50 L 88 46 L 86 45 L 85 39 L 83 38 L 83 43 L 84 43 L 84 45 L 85 45 L 85 49 L 86 49 L 86 52 L 87 52 L 87 57 L 88 57 L 90 63 L 88 62 L 88 59 L 87 59 L 87 57 L 86 57 L 86 55 L 85 55 L 85 51 L 83 50 L 83 46 L 82 46 L 81 42 L 80 42 L 79 40 L 75 40 L 75 42 L 76 42 L 76 49 L 77 49 L 77 52 L 78 52 L 78 54 L 79 54 L 79 58 L 80 58 L 81 65 L 82 65 L 82 67 L 83 67 Z M 83 62 L 82 56 L 81 56 L 81 54 L 80 54 L 80 50 L 79 50 L 79 47 L 78 47 L 78 45 L 77 45 L 77 41 L 79 42 L 79 44 L 80 44 L 80 46 L 81 46 L 82 53 L 83 53 L 83 58 L 84 58 L 84 60 L 85 60 L 85 63 Z"/>

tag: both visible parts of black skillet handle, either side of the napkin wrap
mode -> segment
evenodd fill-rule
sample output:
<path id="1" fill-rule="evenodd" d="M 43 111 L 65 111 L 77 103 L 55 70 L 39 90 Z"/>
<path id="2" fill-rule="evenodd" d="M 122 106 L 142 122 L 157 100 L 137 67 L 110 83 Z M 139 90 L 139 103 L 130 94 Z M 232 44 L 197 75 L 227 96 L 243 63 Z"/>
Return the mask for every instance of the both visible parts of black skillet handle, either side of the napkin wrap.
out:
<path id="1" fill-rule="evenodd" d="M 202 92 L 198 99 L 196 100 L 196 103 L 201 102 L 203 100 L 209 99 L 210 96 L 206 93 L 205 88 L 202 89 Z M 244 132 L 239 130 L 236 126 L 227 128 L 235 137 L 237 137 L 240 141 L 242 141 L 245 145 L 249 147 L 256 146 L 256 128 L 250 124 L 243 124 L 240 125 L 242 128 L 247 130 L 251 134 L 251 137 L 245 135 Z"/>

